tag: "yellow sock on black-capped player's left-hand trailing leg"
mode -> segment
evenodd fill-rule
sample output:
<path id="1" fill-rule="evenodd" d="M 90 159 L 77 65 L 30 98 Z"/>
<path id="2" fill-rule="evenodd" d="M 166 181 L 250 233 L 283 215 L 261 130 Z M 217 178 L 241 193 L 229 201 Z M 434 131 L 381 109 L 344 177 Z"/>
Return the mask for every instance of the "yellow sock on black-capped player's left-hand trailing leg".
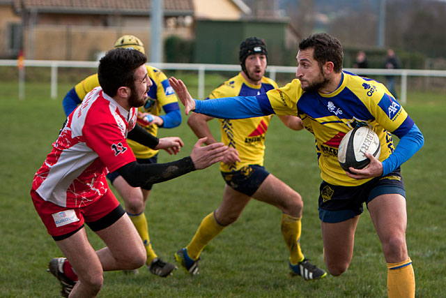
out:
<path id="1" fill-rule="evenodd" d="M 217 234 L 220 234 L 225 227 L 219 225 L 214 217 L 214 212 L 208 214 L 203 221 L 201 221 L 197 232 L 195 232 L 190 244 L 187 244 L 187 255 L 192 260 L 197 260 L 203 248 L 214 239 Z"/>

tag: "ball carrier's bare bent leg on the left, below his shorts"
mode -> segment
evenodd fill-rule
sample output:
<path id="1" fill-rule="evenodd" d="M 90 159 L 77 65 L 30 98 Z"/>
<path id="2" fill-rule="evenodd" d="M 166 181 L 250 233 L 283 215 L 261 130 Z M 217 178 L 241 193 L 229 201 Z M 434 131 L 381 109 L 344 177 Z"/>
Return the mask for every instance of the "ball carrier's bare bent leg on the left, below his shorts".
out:
<path id="1" fill-rule="evenodd" d="M 321 221 L 325 262 L 328 267 L 348 267 L 353 255 L 355 230 L 360 216 L 339 223 Z"/>

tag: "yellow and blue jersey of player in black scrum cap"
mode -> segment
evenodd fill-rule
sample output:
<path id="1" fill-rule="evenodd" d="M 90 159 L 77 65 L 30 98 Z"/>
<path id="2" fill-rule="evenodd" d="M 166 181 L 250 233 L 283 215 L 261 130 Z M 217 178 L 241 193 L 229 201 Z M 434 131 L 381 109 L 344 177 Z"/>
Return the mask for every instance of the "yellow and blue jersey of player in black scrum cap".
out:
<path id="1" fill-rule="evenodd" d="M 276 82 L 262 77 L 260 85 L 249 84 L 239 73 L 212 91 L 209 98 L 231 96 L 257 96 L 277 88 Z M 247 119 L 219 119 L 222 142 L 238 151 L 240 161 L 233 164 L 220 163 L 222 172 L 240 170 L 245 165 L 263 165 L 265 135 L 271 115 Z"/>

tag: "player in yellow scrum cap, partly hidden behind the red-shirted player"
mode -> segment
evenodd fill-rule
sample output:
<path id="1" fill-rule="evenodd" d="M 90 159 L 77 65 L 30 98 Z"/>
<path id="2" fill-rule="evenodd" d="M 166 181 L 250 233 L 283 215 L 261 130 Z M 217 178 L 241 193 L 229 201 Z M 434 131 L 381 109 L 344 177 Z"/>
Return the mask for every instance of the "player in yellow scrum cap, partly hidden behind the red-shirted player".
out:
<path id="1" fill-rule="evenodd" d="M 118 38 L 116 43 L 114 43 L 114 47 L 133 48 L 144 54 L 144 45 L 141 40 L 131 35 Z M 152 82 L 152 87 L 147 93 L 148 98 L 146 102 L 142 107 L 139 107 L 138 124 L 146 128 L 148 133 L 156 137 L 159 127 L 174 128 L 180 125 L 181 113 L 178 106 L 178 98 L 174 90 L 170 87 L 166 75 L 152 66 L 146 66 L 146 68 L 148 78 Z M 75 110 L 77 105 L 84 99 L 84 96 L 98 86 L 98 74 L 95 73 L 68 91 L 68 94 L 63 98 L 63 110 L 65 110 L 66 115 L 68 116 Z M 164 115 L 160 115 L 161 110 L 164 110 Z M 157 150 L 153 150 L 132 140 L 128 140 L 128 144 L 134 156 L 136 156 L 138 163 L 157 163 Z M 169 276 L 175 269 L 175 265 L 161 260 L 153 250 L 151 240 L 148 236 L 146 216 L 144 215 L 144 209 L 152 185 L 147 184 L 141 186 L 141 188 L 134 188 L 116 171 L 107 174 L 107 178 L 123 198 L 125 211 L 130 216 L 130 219 L 144 242 L 144 246 L 146 246 L 146 265 L 148 269 L 152 274 L 157 276 Z M 137 270 L 134 273 L 137 273 Z"/>

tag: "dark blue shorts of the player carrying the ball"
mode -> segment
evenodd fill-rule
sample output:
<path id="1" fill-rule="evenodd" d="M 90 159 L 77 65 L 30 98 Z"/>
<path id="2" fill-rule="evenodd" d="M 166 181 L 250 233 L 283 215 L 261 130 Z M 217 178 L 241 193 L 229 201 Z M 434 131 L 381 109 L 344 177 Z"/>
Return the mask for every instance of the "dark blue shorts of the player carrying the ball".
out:
<path id="1" fill-rule="evenodd" d="M 319 188 L 319 218 L 324 223 L 340 223 L 364 211 L 378 195 L 397 193 L 406 198 L 401 169 L 376 177 L 360 186 L 336 186 L 323 181 Z"/>

